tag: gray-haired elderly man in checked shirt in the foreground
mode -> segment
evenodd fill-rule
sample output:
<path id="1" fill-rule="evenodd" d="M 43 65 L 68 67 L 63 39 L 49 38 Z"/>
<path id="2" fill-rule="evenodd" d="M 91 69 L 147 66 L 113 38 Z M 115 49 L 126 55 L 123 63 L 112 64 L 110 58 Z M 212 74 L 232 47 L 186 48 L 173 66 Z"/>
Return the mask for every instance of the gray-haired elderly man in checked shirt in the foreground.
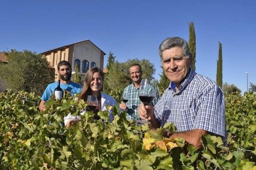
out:
<path id="1" fill-rule="evenodd" d="M 174 123 L 177 132 L 167 137 L 182 137 L 195 147 L 202 146 L 207 133 L 226 139 L 225 102 L 220 87 L 190 68 L 192 55 L 187 42 L 179 37 L 165 39 L 159 47 L 164 74 L 171 81 L 155 107 L 140 104 L 140 118 L 152 128 Z"/>

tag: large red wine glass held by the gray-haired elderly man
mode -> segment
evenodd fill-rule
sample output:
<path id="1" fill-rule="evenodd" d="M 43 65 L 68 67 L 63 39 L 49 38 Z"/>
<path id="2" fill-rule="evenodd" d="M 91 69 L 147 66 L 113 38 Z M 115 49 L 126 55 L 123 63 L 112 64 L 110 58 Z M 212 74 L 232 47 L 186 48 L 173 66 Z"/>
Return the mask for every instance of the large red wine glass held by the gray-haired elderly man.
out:
<path id="1" fill-rule="evenodd" d="M 149 105 L 156 97 L 156 82 L 155 79 L 142 79 L 139 87 L 139 98 L 144 105 Z M 147 119 L 137 121 L 138 124 L 150 123 Z"/>

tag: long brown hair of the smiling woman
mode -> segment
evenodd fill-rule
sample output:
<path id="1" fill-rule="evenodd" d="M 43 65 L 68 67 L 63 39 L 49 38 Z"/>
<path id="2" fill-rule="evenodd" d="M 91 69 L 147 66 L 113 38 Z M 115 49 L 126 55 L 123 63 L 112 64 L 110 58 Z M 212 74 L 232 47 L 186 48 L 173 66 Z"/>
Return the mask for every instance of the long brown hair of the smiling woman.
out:
<path id="1" fill-rule="evenodd" d="M 79 95 L 79 100 L 80 99 L 87 100 L 87 96 L 92 95 L 92 89 L 90 89 L 90 82 L 92 81 L 93 74 L 97 73 L 97 72 L 100 73 L 100 76 L 102 78 L 102 86 L 101 86 L 100 91 L 98 91 L 98 94 L 97 94 L 97 98 L 98 99 L 101 98 L 101 91 L 103 90 L 103 81 L 104 81 L 103 71 L 98 67 L 93 67 L 90 70 L 88 70 L 87 73 L 85 74 L 83 90 L 82 90 L 81 94 Z"/>

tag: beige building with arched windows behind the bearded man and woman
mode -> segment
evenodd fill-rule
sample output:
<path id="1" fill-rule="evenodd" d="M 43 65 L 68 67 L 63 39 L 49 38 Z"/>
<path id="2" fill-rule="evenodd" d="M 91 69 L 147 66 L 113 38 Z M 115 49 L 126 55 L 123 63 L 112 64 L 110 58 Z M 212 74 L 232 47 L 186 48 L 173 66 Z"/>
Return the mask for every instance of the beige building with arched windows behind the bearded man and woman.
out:
<path id="1" fill-rule="evenodd" d="M 99 67 L 103 70 L 105 52 L 101 51 L 90 40 L 76 42 L 67 46 L 62 46 L 41 53 L 46 57 L 51 67 L 55 69 L 55 79 L 57 79 L 60 61 L 66 60 L 72 66 L 72 74 L 75 73 L 75 65 L 79 67 L 79 75 L 83 81 L 85 73 L 92 67 Z"/>

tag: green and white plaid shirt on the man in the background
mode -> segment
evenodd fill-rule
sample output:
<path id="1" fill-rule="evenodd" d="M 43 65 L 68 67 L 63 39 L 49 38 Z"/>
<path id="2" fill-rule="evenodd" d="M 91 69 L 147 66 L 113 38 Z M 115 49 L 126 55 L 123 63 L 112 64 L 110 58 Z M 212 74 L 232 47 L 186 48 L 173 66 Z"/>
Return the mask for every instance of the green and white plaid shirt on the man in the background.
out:
<path id="1" fill-rule="evenodd" d="M 141 103 L 139 99 L 139 89 L 137 89 L 134 84 L 130 84 L 124 88 L 124 93 L 126 93 L 126 97 L 128 99 L 128 102 L 126 103 L 127 106 L 127 119 L 134 119 L 134 120 L 140 120 L 139 116 L 139 105 Z M 151 105 L 155 105 L 158 101 L 159 93 L 158 90 L 156 90 L 156 97 L 151 102 Z"/>

